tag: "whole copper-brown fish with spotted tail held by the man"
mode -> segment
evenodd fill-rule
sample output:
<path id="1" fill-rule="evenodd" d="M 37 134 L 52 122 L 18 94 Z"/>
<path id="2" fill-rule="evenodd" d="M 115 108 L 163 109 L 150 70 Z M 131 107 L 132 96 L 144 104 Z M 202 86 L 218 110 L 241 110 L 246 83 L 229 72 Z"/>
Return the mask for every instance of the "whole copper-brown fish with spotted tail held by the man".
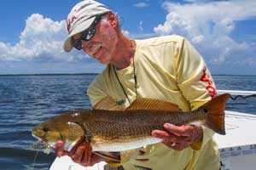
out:
<path id="1" fill-rule="evenodd" d="M 225 134 L 224 109 L 230 94 L 214 97 L 195 111 L 182 111 L 178 105 L 160 99 L 136 99 L 124 109 L 111 97 L 100 100 L 91 109 L 67 111 L 49 118 L 32 129 L 32 136 L 55 148 L 64 140 L 64 150 L 86 141 L 90 152 L 133 150 L 162 139 L 154 138 L 154 129 L 164 123 L 177 126 L 201 123 L 214 132 Z"/>

